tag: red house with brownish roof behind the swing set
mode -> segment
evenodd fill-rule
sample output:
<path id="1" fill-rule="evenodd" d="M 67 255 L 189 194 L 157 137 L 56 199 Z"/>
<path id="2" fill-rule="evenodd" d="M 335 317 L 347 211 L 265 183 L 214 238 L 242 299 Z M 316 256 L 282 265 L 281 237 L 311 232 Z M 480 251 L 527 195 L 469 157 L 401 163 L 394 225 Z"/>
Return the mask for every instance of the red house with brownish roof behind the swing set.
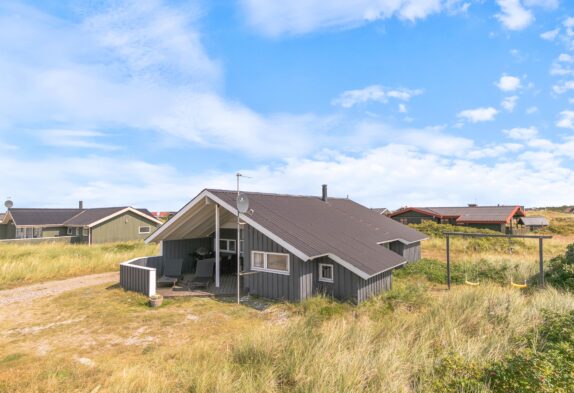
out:
<path id="1" fill-rule="evenodd" d="M 403 224 L 431 220 L 439 224 L 469 226 L 512 233 L 517 219 L 524 217 L 522 206 L 403 207 L 390 217 Z"/>

